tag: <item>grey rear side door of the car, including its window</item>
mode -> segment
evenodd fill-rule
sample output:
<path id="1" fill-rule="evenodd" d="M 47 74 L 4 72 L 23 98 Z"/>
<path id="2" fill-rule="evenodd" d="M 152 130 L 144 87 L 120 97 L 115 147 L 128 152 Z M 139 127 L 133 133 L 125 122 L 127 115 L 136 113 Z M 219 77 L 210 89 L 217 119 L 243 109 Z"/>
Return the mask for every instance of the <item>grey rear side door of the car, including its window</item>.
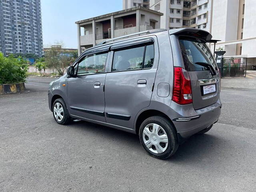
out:
<path id="1" fill-rule="evenodd" d="M 114 44 L 111 50 L 105 81 L 106 122 L 132 129 L 136 114 L 150 104 L 158 64 L 156 37 Z"/>

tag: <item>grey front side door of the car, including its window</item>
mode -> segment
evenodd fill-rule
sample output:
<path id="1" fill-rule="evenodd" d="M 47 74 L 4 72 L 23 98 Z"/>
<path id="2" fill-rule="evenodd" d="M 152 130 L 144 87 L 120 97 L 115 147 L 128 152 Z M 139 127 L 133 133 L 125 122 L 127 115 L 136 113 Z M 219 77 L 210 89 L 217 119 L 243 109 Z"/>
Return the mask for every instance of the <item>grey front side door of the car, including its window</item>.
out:
<path id="1" fill-rule="evenodd" d="M 105 64 L 108 52 L 89 54 L 75 66 L 75 77 L 68 79 L 70 114 L 106 122 L 104 117 Z"/>

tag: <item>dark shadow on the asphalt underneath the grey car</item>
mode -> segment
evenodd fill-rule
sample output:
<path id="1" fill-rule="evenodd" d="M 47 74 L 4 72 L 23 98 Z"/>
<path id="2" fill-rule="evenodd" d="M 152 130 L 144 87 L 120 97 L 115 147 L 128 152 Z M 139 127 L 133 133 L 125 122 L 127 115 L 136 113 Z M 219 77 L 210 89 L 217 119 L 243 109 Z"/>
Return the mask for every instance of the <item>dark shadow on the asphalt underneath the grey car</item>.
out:
<path id="1" fill-rule="evenodd" d="M 127 146 L 129 144 L 129 147 L 133 150 L 141 150 L 144 153 L 138 135 L 84 121 L 74 122 L 72 126 L 84 131 L 86 129 L 86 132 L 90 132 L 90 134 L 94 134 L 96 137 L 100 135 L 108 140 L 115 139 L 120 145 Z M 211 130 L 206 134 L 195 134 L 188 138 L 186 142 L 179 146 L 176 154 L 167 161 L 172 163 L 184 162 L 184 164 L 187 164 L 189 162 L 190 164 L 196 164 L 204 160 L 208 161 L 218 158 L 216 152 L 219 153 L 220 149 L 226 150 L 225 148 L 228 147 L 230 146 L 228 146 L 224 138 L 214 134 Z"/>

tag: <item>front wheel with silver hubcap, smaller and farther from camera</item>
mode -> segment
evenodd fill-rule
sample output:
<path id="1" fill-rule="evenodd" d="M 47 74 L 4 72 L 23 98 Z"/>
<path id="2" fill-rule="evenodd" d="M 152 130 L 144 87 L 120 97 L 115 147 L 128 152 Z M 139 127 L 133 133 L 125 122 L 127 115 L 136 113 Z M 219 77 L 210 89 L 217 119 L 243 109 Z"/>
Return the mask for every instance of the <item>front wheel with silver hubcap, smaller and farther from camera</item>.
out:
<path id="1" fill-rule="evenodd" d="M 66 125 L 71 121 L 66 104 L 62 98 L 58 98 L 54 101 L 52 105 L 52 114 L 58 124 Z"/>

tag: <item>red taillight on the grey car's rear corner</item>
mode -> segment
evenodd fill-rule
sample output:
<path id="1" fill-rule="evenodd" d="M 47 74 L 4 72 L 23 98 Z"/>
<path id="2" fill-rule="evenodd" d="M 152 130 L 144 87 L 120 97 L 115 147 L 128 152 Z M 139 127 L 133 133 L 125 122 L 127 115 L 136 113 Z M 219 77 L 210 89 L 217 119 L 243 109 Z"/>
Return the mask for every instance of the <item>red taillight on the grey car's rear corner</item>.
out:
<path id="1" fill-rule="evenodd" d="M 192 103 L 192 90 L 188 72 L 181 67 L 174 68 L 172 100 L 180 105 Z"/>

